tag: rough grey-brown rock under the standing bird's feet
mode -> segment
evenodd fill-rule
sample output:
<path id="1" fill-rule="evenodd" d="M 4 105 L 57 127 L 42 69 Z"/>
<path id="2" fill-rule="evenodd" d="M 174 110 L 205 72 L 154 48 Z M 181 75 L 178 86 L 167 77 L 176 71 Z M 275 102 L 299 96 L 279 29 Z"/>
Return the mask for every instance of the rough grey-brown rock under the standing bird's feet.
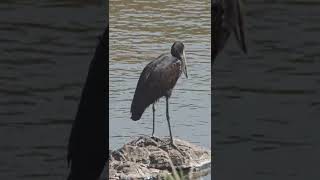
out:
<path id="1" fill-rule="evenodd" d="M 211 151 L 174 138 L 141 136 L 122 148 L 109 151 L 108 179 L 159 179 L 179 170 L 191 179 L 208 174 Z"/>

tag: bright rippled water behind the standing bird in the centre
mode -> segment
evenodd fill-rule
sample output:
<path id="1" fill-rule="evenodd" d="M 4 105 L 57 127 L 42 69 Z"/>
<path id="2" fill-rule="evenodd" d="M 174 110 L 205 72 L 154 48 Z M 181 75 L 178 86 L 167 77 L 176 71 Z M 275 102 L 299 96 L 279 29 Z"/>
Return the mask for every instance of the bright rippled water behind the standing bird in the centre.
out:
<path id="1" fill-rule="evenodd" d="M 173 136 L 211 148 L 210 1 L 112 0 L 109 5 L 110 148 L 151 135 L 152 108 L 132 121 L 131 101 L 145 65 L 170 52 L 178 40 L 185 45 L 189 79 L 181 75 L 170 99 Z M 169 136 L 165 108 L 161 99 L 156 104 L 156 136 Z"/>

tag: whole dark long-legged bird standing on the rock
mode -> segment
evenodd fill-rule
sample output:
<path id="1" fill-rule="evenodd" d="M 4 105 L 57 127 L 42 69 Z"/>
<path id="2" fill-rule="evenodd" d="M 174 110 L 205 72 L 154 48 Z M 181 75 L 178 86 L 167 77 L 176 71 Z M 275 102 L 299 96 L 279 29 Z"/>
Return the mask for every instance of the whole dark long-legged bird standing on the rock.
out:
<path id="1" fill-rule="evenodd" d="M 161 54 L 149 62 L 143 69 L 131 104 L 131 119 L 137 121 L 145 109 L 152 104 L 153 129 L 155 129 L 155 103 L 162 97 L 166 99 L 166 119 L 170 133 L 170 144 L 177 149 L 173 142 L 170 116 L 169 98 L 182 72 L 188 79 L 187 59 L 184 44 L 180 41 L 173 43 L 171 53 Z"/>

